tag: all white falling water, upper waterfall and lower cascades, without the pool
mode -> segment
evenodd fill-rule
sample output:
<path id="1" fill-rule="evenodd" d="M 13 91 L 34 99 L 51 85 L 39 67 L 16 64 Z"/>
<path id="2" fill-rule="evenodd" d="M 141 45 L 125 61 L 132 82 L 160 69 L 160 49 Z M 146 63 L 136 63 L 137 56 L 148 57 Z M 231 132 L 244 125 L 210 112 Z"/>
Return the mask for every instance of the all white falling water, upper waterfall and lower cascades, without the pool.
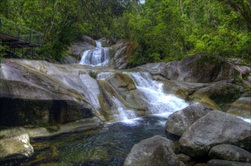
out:
<path id="1" fill-rule="evenodd" d="M 107 66 L 109 62 L 109 48 L 102 47 L 100 41 L 96 41 L 96 47 L 92 50 L 86 50 L 80 61 L 80 64 L 89 66 Z M 97 75 L 97 80 L 106 80 L 106 78 L 113 75 L 114 72 L 102 72 Z M 174 95 L 166 94 L 163 90 L 163 83 L 155 81 L 152 79 L 151 75 L 147 72 L 129 72 L 129 74 L 137 89 L 141 92 L 143 100 L 146 103 L 148 111 L 150 114 L 171 114 L 176 110 L 180 110 L 186 107 L 188 104 L 184 100 L 177 98 Z M 95 96 L 95 95 L 91 95 Z M 97 99 L 94 97 L 93 99 Z M 136 118 L 134 110 L 127 109 L 119 99 L 112 97 L 111 99 L 116 108 L 114 111 L 115 119 L 119 121 L 126 121 L 129 119 Z M 91 100 L 93 103 L 93 100 Z M 94 102 L 95 104 L 96 102 Z M 99 104 L 96 103 L 95 106 L 98 108 Z"/>

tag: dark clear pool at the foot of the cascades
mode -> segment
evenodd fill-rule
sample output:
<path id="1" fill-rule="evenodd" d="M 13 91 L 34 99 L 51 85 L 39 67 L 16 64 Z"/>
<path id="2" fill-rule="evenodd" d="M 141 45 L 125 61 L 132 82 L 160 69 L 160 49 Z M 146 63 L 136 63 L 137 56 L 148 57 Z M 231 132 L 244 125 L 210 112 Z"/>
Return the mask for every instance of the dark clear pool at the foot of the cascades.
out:
<path id="1" fill-rule="evenodd" d="M 134 144 L 154 135 L 165 136 L 165 122 L 166 118 L 144 117 L 134 123 L 118 122 L 95 130 L 36 139 L 32 141 L 35 154 L 10 165 L 122 166 Z"/>

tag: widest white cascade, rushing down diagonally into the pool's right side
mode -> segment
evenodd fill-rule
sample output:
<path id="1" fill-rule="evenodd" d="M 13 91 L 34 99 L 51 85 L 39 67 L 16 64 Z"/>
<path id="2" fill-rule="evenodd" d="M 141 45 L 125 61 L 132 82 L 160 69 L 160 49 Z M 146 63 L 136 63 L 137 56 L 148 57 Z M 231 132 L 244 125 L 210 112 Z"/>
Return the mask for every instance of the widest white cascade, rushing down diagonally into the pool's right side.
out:
<path id="1" fill-rule="evenodd" d="M 142 97 L 148 104 L 148 109 L 152 114 L 167 117 L 173 112 L 188 106 L 184 100 L 166 94 L 163 90 L 163 83 L 153 80 L 148 72 L 128 74 L 131 75 L 137 89 L 142 93 Z"/>

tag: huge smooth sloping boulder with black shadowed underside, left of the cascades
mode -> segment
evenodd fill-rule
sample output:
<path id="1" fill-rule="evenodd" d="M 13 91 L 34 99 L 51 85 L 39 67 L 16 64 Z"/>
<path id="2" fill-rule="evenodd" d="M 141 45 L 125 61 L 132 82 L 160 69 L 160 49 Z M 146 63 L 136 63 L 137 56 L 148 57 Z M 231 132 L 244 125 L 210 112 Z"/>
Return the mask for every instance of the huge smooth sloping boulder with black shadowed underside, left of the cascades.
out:
<path id="1" fill-rule="evenodd" d="M 45 126 L 95 115 L 88 87 L 92 82 L 95 89 L 95 81 L 79 69 L 45 61 L 4 60 L 0 73 L 0 125 Z"/>

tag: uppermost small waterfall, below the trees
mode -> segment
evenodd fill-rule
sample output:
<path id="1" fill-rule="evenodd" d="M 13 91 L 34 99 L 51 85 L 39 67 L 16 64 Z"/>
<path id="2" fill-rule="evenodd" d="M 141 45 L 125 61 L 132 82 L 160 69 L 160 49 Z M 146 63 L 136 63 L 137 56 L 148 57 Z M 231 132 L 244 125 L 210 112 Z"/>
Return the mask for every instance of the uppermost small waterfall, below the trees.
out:
<path id="1" fill-rule="evenodd" d="M 107 66 L 109 58 L 109 48 L 102 47 L 101 42 L 96 41 L 96 47 L 94 49 L 83 52 L 79 64 L 89 66 Z"/>

